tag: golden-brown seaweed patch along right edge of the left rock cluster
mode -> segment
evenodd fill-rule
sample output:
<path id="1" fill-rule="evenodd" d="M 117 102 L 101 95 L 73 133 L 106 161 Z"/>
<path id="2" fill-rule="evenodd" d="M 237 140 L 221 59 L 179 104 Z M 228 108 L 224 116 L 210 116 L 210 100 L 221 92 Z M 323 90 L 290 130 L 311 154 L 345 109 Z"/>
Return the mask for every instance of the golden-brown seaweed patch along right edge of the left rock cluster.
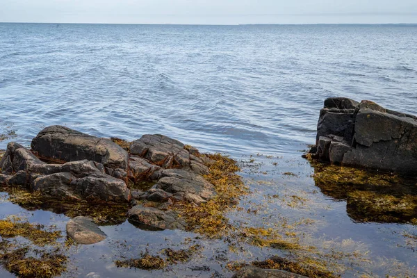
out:
<path id="1" fill-rule="evenodd" d="M 233 229 L 224 213 L 236 206 L 240 196 L 248 193 L 236 161 L 222 154 L 205 154 L 209 158 L 208 174 L 204 179 L 215 186 L 217 195 L 200 206 L 188 202 L 177 202 L 172 208 L 188 223 L 188 230 L 210 238 L 221 237 Z"/>

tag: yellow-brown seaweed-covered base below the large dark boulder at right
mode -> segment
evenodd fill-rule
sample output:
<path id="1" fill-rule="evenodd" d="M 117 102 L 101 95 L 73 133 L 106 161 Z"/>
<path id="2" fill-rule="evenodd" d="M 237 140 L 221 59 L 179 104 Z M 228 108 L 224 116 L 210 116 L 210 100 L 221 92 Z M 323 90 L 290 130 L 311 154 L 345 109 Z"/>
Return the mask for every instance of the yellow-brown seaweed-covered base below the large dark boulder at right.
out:
<path id="1" fill-rule="evenodd" d="M 417 180 L 373 171 L 311 162 L 322 193 L 345 200 L 357 222 L 416 223 Z"/>

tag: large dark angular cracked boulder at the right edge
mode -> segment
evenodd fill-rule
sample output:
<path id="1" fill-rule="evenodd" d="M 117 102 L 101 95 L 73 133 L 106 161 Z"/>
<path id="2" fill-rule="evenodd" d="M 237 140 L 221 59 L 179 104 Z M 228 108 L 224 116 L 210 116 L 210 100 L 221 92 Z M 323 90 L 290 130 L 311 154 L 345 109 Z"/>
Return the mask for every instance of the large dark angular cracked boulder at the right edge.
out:
<path id="1" fill-rule="evenodd" d="M 417 176 L 417 117 L 373 101 L 326 99 L 312 150 L 320 161 Z"/>

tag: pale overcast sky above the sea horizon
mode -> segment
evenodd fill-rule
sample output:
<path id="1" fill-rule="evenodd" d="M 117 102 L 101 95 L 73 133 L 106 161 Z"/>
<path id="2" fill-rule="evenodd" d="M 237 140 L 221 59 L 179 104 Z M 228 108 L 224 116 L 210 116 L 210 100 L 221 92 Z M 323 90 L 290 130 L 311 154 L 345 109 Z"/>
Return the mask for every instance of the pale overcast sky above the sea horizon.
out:
<path id="1" fill-rule="evenodd" d="M 417 23 L 417 0 L 0 0 L 0 22 Z"/>

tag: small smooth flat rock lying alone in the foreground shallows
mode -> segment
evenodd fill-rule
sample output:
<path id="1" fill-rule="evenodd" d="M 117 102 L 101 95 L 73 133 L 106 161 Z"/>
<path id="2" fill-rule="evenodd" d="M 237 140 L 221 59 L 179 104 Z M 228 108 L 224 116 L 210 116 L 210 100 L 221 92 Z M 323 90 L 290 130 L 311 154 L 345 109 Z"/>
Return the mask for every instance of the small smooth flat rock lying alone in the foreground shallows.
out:
<path id="1" fill-rule="evenodd" d="M 106 234 L 90 218 L 77 216 L 67 223 L 67 235 L 78 244 L 99 243 L 107 238 Z"/>

